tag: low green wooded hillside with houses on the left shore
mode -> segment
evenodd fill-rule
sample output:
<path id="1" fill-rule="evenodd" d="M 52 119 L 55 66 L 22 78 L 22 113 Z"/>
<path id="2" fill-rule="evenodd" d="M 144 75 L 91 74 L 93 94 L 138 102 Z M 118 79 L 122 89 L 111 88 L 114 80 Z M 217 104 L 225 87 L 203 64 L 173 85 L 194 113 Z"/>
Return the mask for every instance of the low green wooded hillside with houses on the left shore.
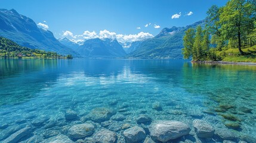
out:
<path id="1" fill-rule="evenodd" d="M 20 46 L 9 39 L 0 37 L 0 57 L 2 58 L 65 58 L 56 52 L 46 52 Z M 72 55 L 71 55 L 72 57 Z"/>

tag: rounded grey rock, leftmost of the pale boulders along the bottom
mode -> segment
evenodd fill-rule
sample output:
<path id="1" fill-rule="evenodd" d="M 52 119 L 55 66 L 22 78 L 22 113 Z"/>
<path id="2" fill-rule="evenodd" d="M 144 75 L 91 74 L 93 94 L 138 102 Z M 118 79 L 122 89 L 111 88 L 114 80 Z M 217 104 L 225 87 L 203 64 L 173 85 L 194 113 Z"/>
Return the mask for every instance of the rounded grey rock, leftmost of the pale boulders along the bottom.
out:
<path id="1" fill-rule="evenodd" d="M 69 128 L 67 133 L 70 138 L 84 138 L 85 136 L 92 135 L 92 133 L 94 133 L 94 125 L 88 123 L 73 125 Z"/>

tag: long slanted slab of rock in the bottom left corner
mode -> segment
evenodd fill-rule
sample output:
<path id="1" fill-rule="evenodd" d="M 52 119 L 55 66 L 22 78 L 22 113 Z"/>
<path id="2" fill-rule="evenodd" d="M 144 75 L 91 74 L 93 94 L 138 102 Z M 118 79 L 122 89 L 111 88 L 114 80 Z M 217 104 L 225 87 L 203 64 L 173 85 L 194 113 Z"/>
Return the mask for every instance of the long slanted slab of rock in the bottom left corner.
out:
<path id="1" fill-rule="evenodd" d="M 4 142 L 8 142 L 8 143 L 18 142 L 24 136 L 29 135 L 31 131 L 32 131 L 32 127 L 26 126 L 26 128 L 20 129 L 17 132 L 10 135 L 7 139 L 4 140 Z"/>

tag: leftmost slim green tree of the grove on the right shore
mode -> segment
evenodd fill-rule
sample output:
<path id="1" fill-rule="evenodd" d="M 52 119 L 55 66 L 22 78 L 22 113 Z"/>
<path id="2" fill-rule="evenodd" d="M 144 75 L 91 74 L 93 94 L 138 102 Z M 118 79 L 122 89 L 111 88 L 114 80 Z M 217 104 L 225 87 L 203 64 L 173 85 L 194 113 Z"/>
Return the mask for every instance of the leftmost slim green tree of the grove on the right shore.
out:
<path id="1" fill-rule="evenodd" d="M 195 42 L 195 29 L 190 28 L 185 32 L 183 38 L 184 48 L 182 49 L 182 54 L 184 59 L 188 59 L 192 56 L 192 49 Z"/>

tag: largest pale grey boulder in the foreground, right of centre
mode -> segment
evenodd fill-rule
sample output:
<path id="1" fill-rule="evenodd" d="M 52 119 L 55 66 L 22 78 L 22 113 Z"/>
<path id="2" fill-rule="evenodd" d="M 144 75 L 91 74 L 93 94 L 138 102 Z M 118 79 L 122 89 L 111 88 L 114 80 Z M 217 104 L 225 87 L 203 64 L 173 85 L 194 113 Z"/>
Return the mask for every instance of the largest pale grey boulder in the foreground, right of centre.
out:
<path id="1" fill-rule="evenodd" d="M 149 131 L 153 139 L 166 142 L 170 139 L 176 139 L 180 136 L 189 134 L 190 128 L 185 123 L 175 120 L 161 120 L 152 123 Z"/>

